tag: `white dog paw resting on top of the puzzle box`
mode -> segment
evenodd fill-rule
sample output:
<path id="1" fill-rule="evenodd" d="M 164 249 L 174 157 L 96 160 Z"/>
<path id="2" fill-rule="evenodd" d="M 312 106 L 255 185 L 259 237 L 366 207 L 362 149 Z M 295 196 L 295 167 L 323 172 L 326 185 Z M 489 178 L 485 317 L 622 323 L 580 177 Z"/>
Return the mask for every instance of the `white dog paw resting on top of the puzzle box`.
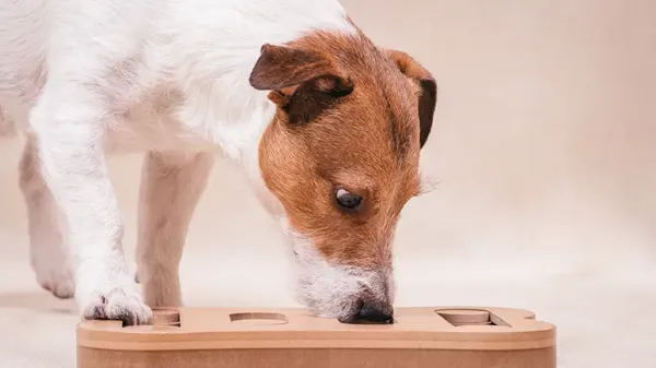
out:
<path id="1" fill-rule="evenodd" d="M 82 316 L 91 320 L 120 320 L 127 325 L 147 324 L 153 312 L 131 277 L 119 283 L 104 283 L 106 287 L 91 293 L 78 290 Z"/>

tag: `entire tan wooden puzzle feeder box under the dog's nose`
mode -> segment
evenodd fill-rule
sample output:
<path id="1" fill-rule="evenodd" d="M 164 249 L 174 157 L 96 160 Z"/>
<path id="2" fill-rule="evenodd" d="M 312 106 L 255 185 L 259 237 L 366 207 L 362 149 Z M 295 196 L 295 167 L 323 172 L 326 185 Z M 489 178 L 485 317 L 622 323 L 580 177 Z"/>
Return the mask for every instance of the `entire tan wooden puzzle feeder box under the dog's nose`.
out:
<path id="1" fill-rule="evenodd" d="M 83 321 L 79 368 L 554 368 L 555 328 L 527 310 L 397 308 L 394 324 L 298 309 L 156 310 L 153 325 Z"/>

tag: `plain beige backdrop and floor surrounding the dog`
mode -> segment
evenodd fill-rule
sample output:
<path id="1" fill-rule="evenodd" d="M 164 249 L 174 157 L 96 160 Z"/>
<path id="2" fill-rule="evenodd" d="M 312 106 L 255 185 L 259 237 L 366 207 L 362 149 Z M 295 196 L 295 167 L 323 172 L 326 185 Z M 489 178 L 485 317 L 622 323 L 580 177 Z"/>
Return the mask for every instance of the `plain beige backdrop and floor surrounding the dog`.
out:
<path id="1" fill-rule="evenodd" d="M 656 2 L 343 1 L 440 84 L 424 173 L 403 211 L 400 305 L 530 308 L 561 367 L 656 367 Z M 72 367 L 72 304 L 28 268 L 20 142 L 0 144 L 0 367 Z M 112 161 L 136 238 L 139 157 Z M 189 234 L 187 304 L 294 305 L 273 224 L 230 164 Z"/>

